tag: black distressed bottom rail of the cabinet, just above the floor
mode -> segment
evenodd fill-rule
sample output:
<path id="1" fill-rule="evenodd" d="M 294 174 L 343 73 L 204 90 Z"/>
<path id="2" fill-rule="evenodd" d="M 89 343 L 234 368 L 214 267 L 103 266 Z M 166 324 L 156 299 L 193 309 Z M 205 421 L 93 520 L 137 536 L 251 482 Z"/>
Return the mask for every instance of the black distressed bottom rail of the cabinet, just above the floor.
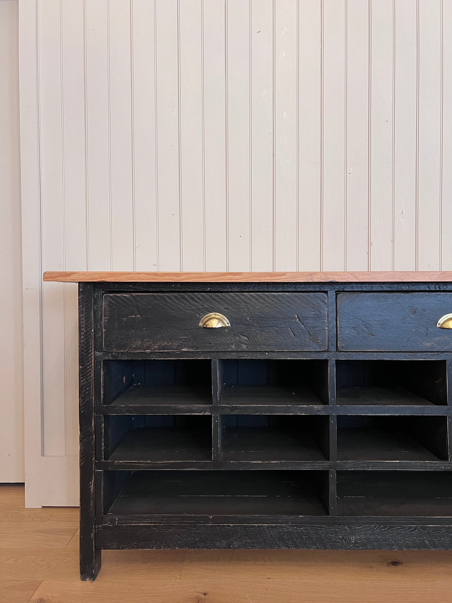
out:
<path id="1" fill-rule="evenodd" d="M 370 520 L 370 518 L 369 518 Z M 102 525 L 96 543 L 102 549 L 372 549 L 449 550 L 450 525 L 386 523 L 273 523 L 265 525 Z"/>

